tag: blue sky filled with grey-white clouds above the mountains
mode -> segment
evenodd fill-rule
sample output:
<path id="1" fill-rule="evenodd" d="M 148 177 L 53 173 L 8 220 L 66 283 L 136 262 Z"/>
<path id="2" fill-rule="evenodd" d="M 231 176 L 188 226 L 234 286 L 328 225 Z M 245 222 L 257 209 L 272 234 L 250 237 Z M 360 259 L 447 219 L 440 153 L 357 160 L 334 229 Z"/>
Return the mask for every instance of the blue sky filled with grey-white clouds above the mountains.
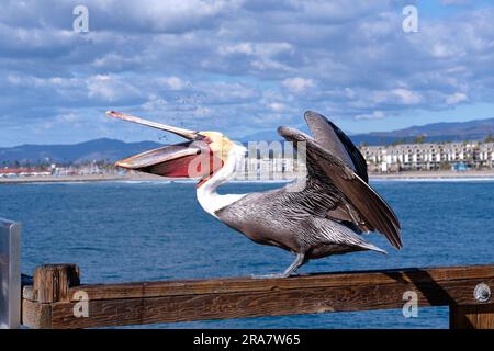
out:
<path id="1" fill-rule="evenodd" d="M 159 140 L 106 110 L 232 138 L 305 110 L 349 133 L 494 117 L 493 19 L 469 0 L 2 0 L 0 146 Z"/>

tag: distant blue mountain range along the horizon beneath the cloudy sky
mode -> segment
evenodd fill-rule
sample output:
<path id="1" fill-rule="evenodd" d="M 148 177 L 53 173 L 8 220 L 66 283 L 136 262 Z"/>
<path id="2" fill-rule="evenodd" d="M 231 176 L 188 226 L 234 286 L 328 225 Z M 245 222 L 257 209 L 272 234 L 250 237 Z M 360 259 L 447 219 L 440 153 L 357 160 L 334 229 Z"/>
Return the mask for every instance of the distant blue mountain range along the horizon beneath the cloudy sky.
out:
<path id="1" fill-rule="evenodd" d="M 305 129 L 304 132 L 307 132 Z M 476 120 L 458 123 L 434 123 L 423 126 L 412 126 L 392 132 L 372 132 L 368 134 L 349 135 L 356 145 L 386 145 L 395 141 L 413 143 L 418 136 L 425 136 L 425 141 L 461 141 L 483 140 L 494 135 L 494 118 Z M 276 131 L 260 132 L 240 139 L 279 140 Z M 19 161 L 20 163 L 81 163 L 86 161 L 106 160 L 115 162 L 125 157 L 162 146 L 154 141 L 124 143 L 115 139 L 96 139 L 74 145 L 21 145 L 0 148 L 0 167 Z"/>

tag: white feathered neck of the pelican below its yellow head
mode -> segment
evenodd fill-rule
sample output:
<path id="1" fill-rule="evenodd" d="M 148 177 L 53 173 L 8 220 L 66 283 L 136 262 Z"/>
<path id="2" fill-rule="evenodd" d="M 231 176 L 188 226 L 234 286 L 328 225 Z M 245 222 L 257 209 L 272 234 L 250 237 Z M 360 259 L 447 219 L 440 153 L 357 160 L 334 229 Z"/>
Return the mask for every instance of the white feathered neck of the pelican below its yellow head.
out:
<path id="1" fill-rule="evenodd" d="M 205 212 L 216 217 L 215 212 L 228 206 L 233 202 L 244 197 L 246 194 L 220 195 L 216 188 L 235 176 L 237 166 L 245 155 L 245 148 L 235 145 L 228 152 L 228 158 L 223 167 L 197 190 L 198 201 Z"/>

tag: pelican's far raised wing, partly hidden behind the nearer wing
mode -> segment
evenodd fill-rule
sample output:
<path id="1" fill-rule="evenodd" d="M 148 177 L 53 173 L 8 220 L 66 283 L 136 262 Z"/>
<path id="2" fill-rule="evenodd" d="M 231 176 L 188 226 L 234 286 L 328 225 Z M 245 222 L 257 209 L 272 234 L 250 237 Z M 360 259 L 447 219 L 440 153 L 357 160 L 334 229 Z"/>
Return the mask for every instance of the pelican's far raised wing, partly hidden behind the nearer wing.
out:
<path id="1" fill-rule="evenodd" d="M 304 117 L 316 141 L 333 156 L 339 157 L 368 183 L 366 159 L 350 138 L 325 116 L 316 112 L 307 111 Z"/>

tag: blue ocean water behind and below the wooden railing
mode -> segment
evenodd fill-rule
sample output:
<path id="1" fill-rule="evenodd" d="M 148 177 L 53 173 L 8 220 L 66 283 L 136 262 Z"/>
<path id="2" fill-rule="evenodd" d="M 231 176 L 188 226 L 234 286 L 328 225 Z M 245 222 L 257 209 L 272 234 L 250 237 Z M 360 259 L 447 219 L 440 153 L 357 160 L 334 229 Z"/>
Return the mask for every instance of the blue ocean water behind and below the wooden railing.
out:
<path id="1" fill-rule="evenodd" d="M 367 238 L 389 256 L 359 252 L 312 261 L 300 272 L 493 263 L 494 181 L 374 181 L 395 210 L 404 248 Z M 280 184 L 232 183 L 225 193 Z M 23 272 L 77 263 L 83 283 L 280 272 L 293 257 L 256 245 L 202 211 L 191 183 L 0 185 L 0 217 L 23 223 Z M 447 308 L 262 317 L 151 328 L 447 328 Z"/>

